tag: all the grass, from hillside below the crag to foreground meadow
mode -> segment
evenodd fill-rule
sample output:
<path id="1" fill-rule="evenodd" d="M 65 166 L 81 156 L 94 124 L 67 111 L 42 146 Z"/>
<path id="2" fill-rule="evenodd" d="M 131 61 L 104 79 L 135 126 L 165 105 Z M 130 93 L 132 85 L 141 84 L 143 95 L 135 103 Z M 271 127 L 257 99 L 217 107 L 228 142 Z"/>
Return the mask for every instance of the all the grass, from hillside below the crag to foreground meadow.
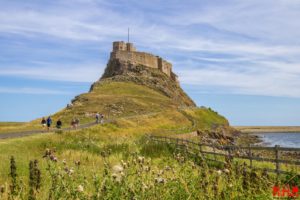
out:
<path id="1" fill-rule="evenodd" d="M 228 127 L 228 121 L 211 109 L 178 110 L 178 107 L 174 99 L 146 86 L 110 81 L 97 84 L 93 92 L 78 96 L 72 108 L 53 114 L 53 120 L 61 118 L 64 126 L 69 126 L 73 117 L 79 117 L 81 123 L 86 123 L 94 121 L 93 114 L 99 112 L 114 121 L 60 134 L 1 140 L 0 187 L 3 185 L 5 188 L 1 195 L 7 197 L 10 192 L 11 156 L 16 160 L 18 181 L 23 189 L 19 198 L 23 199 L 30 196 L 28 166 L 29 161 L 35 159 L 42 174 L 37 199 L 47 199 L 49 194 L 56 199 L 216 199 L 219 196 L 239 199 L 240 196 L 250 198 L 251 192 L 255 191 L 259 197 L 269 195 L 269 188 L 266 188 L 269 185 L 265 182 L 259 187 L 253 183 L 248 190 L 242 188 L 243 179 L 240 177 L 222 176 L 216 183 L 216 168 L 209 169 L 206 164 L 194 167 L 192 163 L 196 160 L 178 160 L 173 155 L 174 149 L 151 144 L 144 139 L 145 134 L 170 136 L 196 129 L 210 130 L 215 125 Z M 3 132 L 12 130 L 6 128 L 8 125 L 2 127 Z M 40 119 L 12 127 L 15 130 L 40 128 Z M 47 149 L 55 150 L 57 163 L 43 158 Z M 137 155 L 147 160 L 151 158 L 149 167 L 153 172 L 146 173 L 143 166 L 134 164 Z M 75 164 L 78 160 L 81 163 L 79 168 Z M 116 183 L 112 178 L 112 166 L 121 164 L 122 160 L 130 163 L 130 167 L 124 171 L 123 182 Z M 49 174 L 49 164 L 52 175 Z M 176 173 L 166 171 L 159 175 L 160 170 L 167 166 Z M 75 174 L 68 175 L 65 168 L 73 168 Z M 209 175 L 203 177 L 203 174 Z M 167 182 L 157 183 L 157 178 Z M 231 189 L 226 185 L 229 180 L 233 183 Z M 52 181 L 57 182 L 51 189 Z M 215 184 L 218 184 L 218 189 L 214 189 Z M 78 191 L 79 185 L 84 187 L 83 192 Z M 226 193 L 231 190 L 231 194 Z"/>

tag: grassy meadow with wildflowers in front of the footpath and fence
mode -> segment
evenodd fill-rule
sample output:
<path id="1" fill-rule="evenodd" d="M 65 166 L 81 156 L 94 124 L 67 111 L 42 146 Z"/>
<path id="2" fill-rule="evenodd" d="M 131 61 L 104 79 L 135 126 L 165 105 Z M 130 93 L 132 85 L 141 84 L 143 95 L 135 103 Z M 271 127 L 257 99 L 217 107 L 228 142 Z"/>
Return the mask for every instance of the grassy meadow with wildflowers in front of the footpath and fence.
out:
<path id="1" fill-rule="evenodd" d="M 160 133 L 163 128 L 175 129 L 181 126 L 191 127 L 192 123 L 181 112 L 168 111 L 159 115 L 119 119 L 111 124 L 85 130 L 2 140 L 0 186 L 3 184 L 6 191 L 2 195 L 8 195 L 9 192 L 9 160 L 13 155 L 17 163 L 18 180 L 22 180 L 22 198 L 29 195 L 29 160 L 37 159 L 42 174 L 42 186 L 36 194 L 37 199 L 47 199 L 50 193 L 56 198 L 69 199 L 93 199 L 94 195 L 100 195 L 99 199 L 271 199 L 272 179 L 261 178 L 260 172 L 255 172 L 255 179 L 250 178 L 249 171 L 246 175 L 236 175 L 237 170 L 234 168 L 227 175 L 223 172 L 224 166 L 205 164 L 185 156 L 175 148 L 155 144 L 144 138 L 145 133 Z M 42 158 L 46 149 L 55 149 L 57 163 Z M 181 156 L 178 157 L 178 153 Z M 103 158 L 103 155 L 108 157 Z M 137 156 L 144 156 L 149 164 L 146 161 L 142 166 L 134 164 Z M 66 165 L 62 163 L 63 160 Z M 79 168 L 75 165 L 78 160 L 81 162 Z M 129 167 L 124 170 L 119 183 L 112 177 L 112 168 L 121 164 L 122 160 Z M 49 163 L 52 175 L 47 170 Z M 69 176 L 64 171 L 66 167 L 73 168 L 74 175 Z M 150 167 L 150 172 L 145 167 Z M 171 170 L 166 170 L 167 167 Z M 219 169 L 222 171 L 220 176 L 217 172 Z M 60 175 L 56 187 L 51 190 L 53 174 Z M 158 178 L 165 182 L 158 183 L 161 180 Z M 229 185 L 228 181 L 232 184 Z M 79 185 L 83 186 L 83 192 L 78 192 Z"/>

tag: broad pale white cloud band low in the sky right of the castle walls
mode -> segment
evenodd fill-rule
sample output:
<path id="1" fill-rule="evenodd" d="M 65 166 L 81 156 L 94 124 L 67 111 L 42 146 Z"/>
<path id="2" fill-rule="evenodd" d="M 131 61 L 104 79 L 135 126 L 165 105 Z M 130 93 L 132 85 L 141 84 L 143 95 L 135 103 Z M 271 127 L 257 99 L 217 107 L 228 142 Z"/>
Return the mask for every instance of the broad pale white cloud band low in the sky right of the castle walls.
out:
<path id="1" fill-rule="evenodd" d="M 179 71 L 179 77 L 183 84 L 201 88 L 213 87 L 207 90 L 209 93 L 219 93 L 220 90 L 215 91 L 215 88 L 221 88 L 222 93 L 300 98 L 299 75 L 275 70 L 258 71 L 239 72 L 219 67 L 187 69 Z"/>

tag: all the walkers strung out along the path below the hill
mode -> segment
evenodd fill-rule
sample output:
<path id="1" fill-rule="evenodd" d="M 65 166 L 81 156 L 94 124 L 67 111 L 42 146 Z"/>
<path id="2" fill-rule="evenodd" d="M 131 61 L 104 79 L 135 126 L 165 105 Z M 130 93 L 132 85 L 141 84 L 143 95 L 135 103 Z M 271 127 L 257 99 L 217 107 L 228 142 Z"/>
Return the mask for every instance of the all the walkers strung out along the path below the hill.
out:
<path id="1" fill-rule="evenodd" d="M 97 124 L 99 124 L 99 123 L 103 124 L 103 122 L 104 122 L 103 114 L 96 113 L 95 118 L 96 118 Z M 51 128 L 51 125 L 52 125 L 51 116 L 49 116 L 47 119 L 45 117 L 43 117 L 41 124 L 44 128 L 47 128 L 47 130 L 49 131 Z M 71 127 L 74 129 L 77 129 L 78 126 L 79 126 L 79 119 L 73 118 L 71 121 Z M 61 127 L 62 127 L 62 121 L 60 118 L 58 118 L 58 120 L 56 121 L 56 128 L 61 129 Z"/>

